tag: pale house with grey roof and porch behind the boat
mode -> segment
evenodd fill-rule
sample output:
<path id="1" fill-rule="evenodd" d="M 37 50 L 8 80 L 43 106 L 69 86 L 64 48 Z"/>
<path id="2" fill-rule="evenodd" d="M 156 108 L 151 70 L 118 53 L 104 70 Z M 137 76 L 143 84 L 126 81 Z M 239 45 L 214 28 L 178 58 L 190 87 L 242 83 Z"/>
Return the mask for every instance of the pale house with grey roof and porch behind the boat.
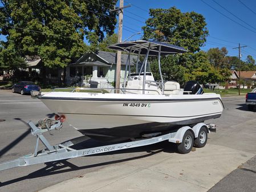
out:
<path id="1" fill-rule="evenodd" d="M 112 83 L 115 81 L 116 53 L 107 51 L 87 52 L 77 62 L 66 68 L 66 83 L 72 84 L 80 80 L 92 80 L 98 83 Z M 124 79 L 125 64 L 128 55 L 121 56 L 121 81 Z M 137 56 L 131 55 L 131 66 L 134 66 Z M 90 78 L 90 79 L 88 79 Z"/>

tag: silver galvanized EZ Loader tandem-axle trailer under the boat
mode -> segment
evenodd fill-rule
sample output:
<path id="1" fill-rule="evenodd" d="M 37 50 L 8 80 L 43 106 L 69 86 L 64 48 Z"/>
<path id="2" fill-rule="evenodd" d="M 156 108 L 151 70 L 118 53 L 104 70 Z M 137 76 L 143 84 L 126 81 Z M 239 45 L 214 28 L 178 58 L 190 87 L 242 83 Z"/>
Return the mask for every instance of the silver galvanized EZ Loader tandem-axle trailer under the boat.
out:
<path id="1" fill-rule="evenodd" d="M 44 132 L 49 132 L 51 134 L 52 130 L 61 129 L 62 122 L 60 120 L 52 120 L 50 118 L 46 118 L 44 120 L 39 120 L 37 126 L 32 121 L 29 121 L 28 124 L 31 128 L 32 135 L 36 136 L 34 153 L 17 158 L 15 160 L 0 163 L 0 171 L 18 166 L 28 166 L 51 161 L 66 160 L 75 157 L 90 156 L 92 154 L 136 148 L 139 146 L 156 144 L 157 142 L 166 140 L 178 144 L 178 152 L 189 153 L 193 146 L 205 146 L 210 130 L 213 132 L 216 131 L 216 126 L 214 124 L 206 125 L 200 122 L 194 125 L 192 128 L 190 126 L 183 126 L 182 128 L 176 130 L 176 132 L 169 132 L 160 136 L 156 135 L 161 133 L 147 134 L 144 136 L 144 138 L 140 138 L 138 140 L 134 139 L 130 142 L 122 142 L 118 144 L 76 150 L 71 148 L 72 145 L 77 144 L 76 142 L 73 142 L 75 139 L 52 146 L 43 136 Z M 44 146 L 46 146 L 46 149 L 38 151 L 39 140 L 43 143 Z M 79 141 L 79 143 L 83 141 Z"/>

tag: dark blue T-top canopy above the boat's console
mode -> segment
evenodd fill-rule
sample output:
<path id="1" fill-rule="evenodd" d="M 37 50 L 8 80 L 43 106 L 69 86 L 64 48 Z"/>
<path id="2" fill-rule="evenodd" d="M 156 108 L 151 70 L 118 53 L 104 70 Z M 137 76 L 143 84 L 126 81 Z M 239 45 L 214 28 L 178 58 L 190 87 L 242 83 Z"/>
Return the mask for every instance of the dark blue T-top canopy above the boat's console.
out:
<path id="1" fill-rule="evenodd" d="M 133 54 L 146 55 L 150 44 L 149 55 L 159 55 L 159 47 L 161 46 L 161 55 L 178 54 L 187 52 L 185 48 L 174 46 L 173 44 L 157 42 L 153 40 L 133 40 L 130 42 L 121 42 L 109 46 L 111 50 L 127 51 Z"/>

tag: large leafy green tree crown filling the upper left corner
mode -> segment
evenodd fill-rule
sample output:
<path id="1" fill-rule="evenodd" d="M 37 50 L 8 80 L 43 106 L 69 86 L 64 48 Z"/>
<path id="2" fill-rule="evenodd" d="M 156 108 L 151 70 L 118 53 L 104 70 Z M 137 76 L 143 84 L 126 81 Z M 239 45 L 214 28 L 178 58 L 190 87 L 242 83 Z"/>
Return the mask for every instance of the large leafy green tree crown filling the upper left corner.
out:
<path id="1" fill-rule="evenodd" d="M 18 55 L 39 55 L 47 67 L 65 67 L 88 48 L 84 36 L 96 50 L 104 32 L 113 34 L 116 13 L 109 13 L 108 3 L 115 5 L 116 1 L 3 0 L 4 48 Z"/>

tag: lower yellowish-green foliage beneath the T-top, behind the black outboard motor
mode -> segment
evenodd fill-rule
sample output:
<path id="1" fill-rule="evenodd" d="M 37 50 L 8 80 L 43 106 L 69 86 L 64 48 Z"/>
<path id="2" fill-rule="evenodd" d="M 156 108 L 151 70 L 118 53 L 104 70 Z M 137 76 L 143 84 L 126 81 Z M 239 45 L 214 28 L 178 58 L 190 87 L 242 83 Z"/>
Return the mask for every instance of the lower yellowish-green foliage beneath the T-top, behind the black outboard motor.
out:
<path id="1" fill-rule="evenodd" d="M 185 61 L 179 64 L 179 60 Z M 224 81 L 222 71 L 216 70 L 207 58 L 204 51 L 196 54 L 186 55 L 169 55 L 161 59 L 161 71 L 164 74 L 165 80 L 175 80 L 180 84 L 185 84 L 186 81 L 196 80 L 201 84 L 219 83 Z M 151 70 L 156 79 L 160 79 L 159 67 L 157 60 L 153 60 Z"/>

